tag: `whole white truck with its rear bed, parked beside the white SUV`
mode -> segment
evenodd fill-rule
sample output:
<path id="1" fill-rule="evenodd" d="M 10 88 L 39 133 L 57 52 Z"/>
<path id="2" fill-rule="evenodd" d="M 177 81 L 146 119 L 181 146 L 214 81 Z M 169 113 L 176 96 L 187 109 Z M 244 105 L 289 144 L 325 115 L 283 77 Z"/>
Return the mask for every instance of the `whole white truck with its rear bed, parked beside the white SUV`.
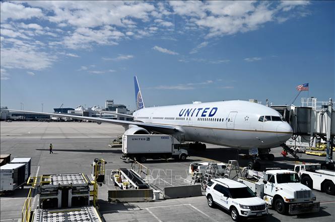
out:
<path id="1" fill-rule="evenodd" d="M 269 206 L 280 214 L 300 214 L 318 212 L 320 202 L 311 189 L 300 183 L 299 176 L 292 170 L 248 171 L 238 180 L 247 185 Z M 244 174 L 244 173 L 243 173 Z M 244 174 L 245 175 L 245 174 Z"/>

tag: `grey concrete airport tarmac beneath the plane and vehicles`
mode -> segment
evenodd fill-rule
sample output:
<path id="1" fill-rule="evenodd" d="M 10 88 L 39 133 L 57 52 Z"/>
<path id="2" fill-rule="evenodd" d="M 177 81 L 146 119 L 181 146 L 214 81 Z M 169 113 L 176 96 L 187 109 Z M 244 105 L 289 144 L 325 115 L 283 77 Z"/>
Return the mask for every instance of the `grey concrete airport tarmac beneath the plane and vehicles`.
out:
<path id="1" fill-rule="evenodd" d="M 130 168 L 131 162 L 120 159 L 120 148 L 109 148 L 112 139 L 124 132 L 123 127 L 112 124 L 78 122 L 1 122 L 1 154 L 14 157 L 32 158 L 32 175 L 58 173 L 91 173 L 94 158 L 107 161 L 106 175 L 111 170 Z M 49 154 L 49 144 L 53 144 L 54 154 Z M 205 152 L 191 151 L 187 161 L 148 160 L 144 165 L 152 172 L 152 185 L 163 190 L 165 186 L 189 184 L 187 174 L 191 162 L 216 160 L 227 162 L 236 159 L 235 149 L 207 145 Z M 275 161 L 261 161 L 263 167 L 282 167 L 293 169 L 295 159 L 280 155 L 281 148 L 272 149 Z M 324 157 L 303 154 L 300 161 L 322 162 Z M 239 157 L 240 165 L 247 160 Z M 109 180 L 99 187 L 100 212 L 106 221 L 232 221 L 224 210 L 210 208 L 205 196 L 159 200 L 153 202 L 110 203 L 108 190 L 115 189 Z M 21 210 L 29 187 L 18 189 L 12 195 L 1 196 L 1 221 L 20 221 Z M 313 214 L 285 216 L 269 210 L 266 221 L 334 221 L 335 196 L 314 190 L 320 211 Z M 33 192 L 36 196 L 37 191 Z M 36 207 L 37 199 L 33 198 Z"/>

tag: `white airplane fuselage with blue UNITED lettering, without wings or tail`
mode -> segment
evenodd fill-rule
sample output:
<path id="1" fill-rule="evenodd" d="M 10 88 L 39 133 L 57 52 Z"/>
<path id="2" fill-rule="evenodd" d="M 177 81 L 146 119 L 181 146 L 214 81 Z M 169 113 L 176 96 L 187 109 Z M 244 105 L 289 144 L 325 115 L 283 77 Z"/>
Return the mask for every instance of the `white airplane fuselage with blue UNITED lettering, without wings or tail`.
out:
<path id="1" fill-rule="evenodd" d="M 291 126 L 278 120 L 282 117 L 275 109 L 248 101 L 148 107 L 133 116 L 138 122 L 175 126 L 185 141 L 239 149 L 278 147 L 292 136 Z M 261 116 L 267 121 L 260 121 Z"/>

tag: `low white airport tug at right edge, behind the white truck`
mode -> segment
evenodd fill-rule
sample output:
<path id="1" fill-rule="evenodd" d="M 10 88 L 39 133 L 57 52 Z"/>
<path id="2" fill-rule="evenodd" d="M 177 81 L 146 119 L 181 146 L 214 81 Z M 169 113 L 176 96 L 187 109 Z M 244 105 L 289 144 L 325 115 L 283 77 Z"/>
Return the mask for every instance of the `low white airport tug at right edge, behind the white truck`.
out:
<path id="1" fill-rule="evenodd" d="M 334 171 L 321 170 L 321 165 L 314 163 L 296 164 L 294 171 L 299 174 L 300 182 L 309 188 L 335 194 Z"/>

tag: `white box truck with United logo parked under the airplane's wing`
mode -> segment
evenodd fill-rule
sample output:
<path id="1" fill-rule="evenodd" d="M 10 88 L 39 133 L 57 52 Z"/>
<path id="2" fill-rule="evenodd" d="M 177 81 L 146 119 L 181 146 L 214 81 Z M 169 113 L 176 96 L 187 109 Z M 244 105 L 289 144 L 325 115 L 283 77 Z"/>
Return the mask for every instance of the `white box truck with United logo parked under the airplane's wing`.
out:
<path id="1" fill-rule="evenodd" d="M 188 157 L 187 150 L 170 135 L 136 134 L 122 136 L 122 158 L 145 162 L 147 159 L 175 158 L 181 161 Z"/>

